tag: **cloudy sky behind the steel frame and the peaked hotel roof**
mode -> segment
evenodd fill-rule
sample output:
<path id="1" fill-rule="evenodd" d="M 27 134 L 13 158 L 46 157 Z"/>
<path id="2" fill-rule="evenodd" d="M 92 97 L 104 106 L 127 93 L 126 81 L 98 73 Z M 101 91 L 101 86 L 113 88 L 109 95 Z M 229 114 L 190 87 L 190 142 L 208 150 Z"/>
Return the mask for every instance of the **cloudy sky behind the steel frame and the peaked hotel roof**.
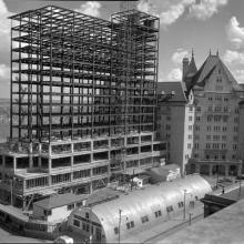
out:
<path id="1" fill-rule="evenodd" d="M 9 16 L 55 4 L 102 19 L 120 11 L 120 1 L 0 0 L 0 98 L 10 96 Z M 182 59 L 191 58 L 197 68 L 210 50 L 218 50 L 237 82 L 244 82 L 244 0 L 140 0 L 140 11 L 160 18 L 159 81 L 181 80 Z"/>

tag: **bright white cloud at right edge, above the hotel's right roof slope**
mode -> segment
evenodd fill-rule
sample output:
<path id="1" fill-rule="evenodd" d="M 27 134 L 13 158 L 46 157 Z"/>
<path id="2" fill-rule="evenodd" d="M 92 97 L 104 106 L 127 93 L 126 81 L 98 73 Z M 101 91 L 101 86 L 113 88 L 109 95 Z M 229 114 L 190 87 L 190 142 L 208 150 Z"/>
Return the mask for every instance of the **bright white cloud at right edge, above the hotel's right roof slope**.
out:
<path id="1" fill-rule="evenodd" d="M 244 45 L 244 28 L 240 27 L 240 22 L 236 17 L 232 17 L 226 26 L 226 32 L 228 40 L 235 49 L 240 49 Z"/>

